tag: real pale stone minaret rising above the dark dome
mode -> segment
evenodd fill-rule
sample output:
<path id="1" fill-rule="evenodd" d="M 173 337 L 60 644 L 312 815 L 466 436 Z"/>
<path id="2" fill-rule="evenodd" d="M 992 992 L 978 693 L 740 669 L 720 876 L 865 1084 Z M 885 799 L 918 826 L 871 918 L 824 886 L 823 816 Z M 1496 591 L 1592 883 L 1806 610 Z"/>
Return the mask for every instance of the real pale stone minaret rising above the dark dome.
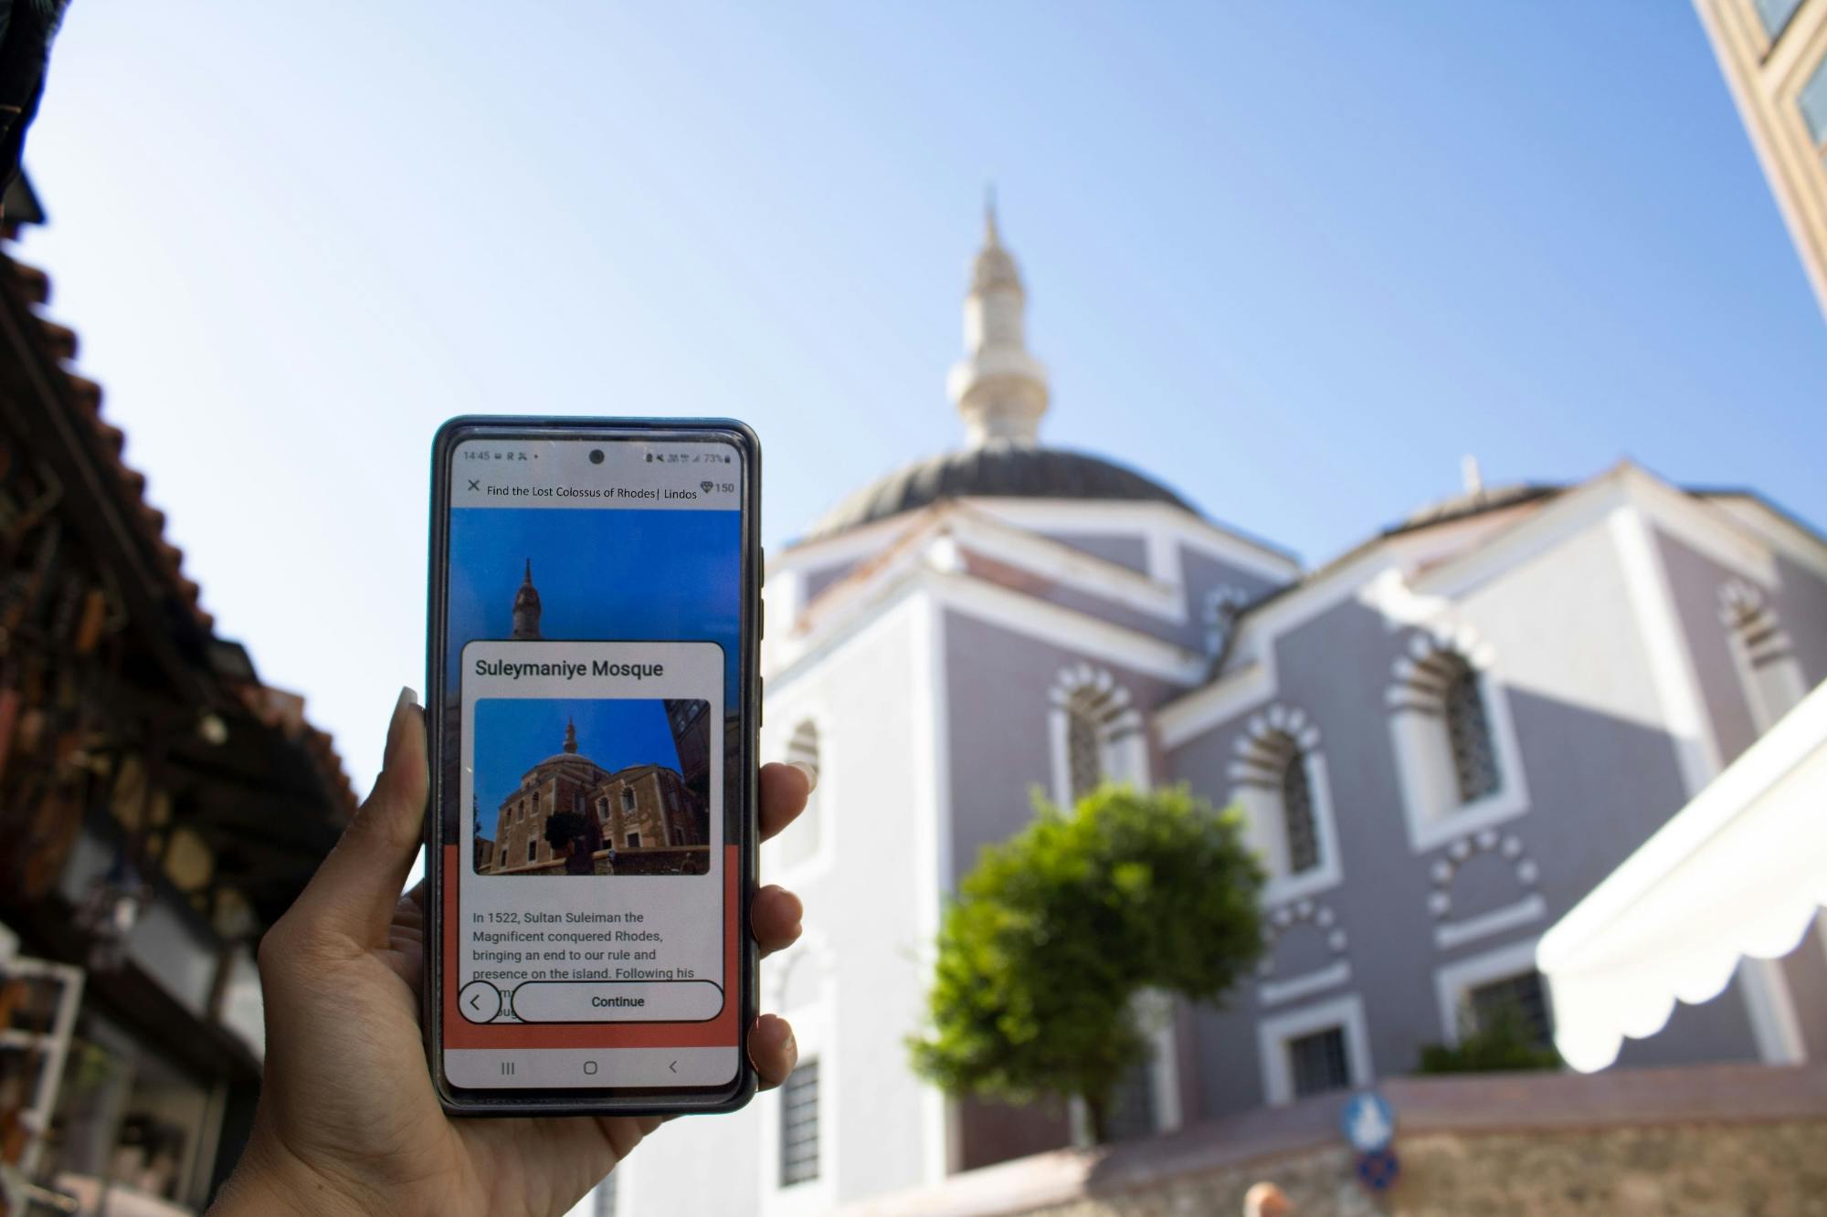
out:
<path id="1" fill-rule="evenodd" d="M 965 296 L 965 358 L 946 389 L 965 417 L 972 448 L 1003 440 L 1032 444 L 1047 413 L 1047 369 L 1027 349 L 1027 292 L 1016 259 L 996 232 L 994 196 L 983 208 L 983 249 Z"/>

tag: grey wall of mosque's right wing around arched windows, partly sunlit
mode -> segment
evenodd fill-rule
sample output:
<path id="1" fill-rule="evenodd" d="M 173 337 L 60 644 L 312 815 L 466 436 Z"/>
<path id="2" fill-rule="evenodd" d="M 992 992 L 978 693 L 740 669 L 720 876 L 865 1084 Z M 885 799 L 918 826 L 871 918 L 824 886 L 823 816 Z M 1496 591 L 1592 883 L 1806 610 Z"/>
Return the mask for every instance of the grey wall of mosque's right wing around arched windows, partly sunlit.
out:
<path id="1" fill-rule="evenodd" d="M 1491 837 L 1449 833 L 1425 848 L 1410 841 L 1387 693 L 1416 627 L 1359 598 L 1275 638 L 1273 693 L 1167 755 L 1169 778 L 1222 804 L 1250 718 L 1270 704 L 1299 709 L 1321 733 L 1343 859 L 1334 886 L 1268 908 L 1275 941 L 1262 978 L 1281 985 L 1330 968 L 1334 983 L 1275 1001 L 1273 989 L 1246 985 L 1231 1009 L 1199 1014 L 1206 1115 L 1268 1098 L 1257 1049 L 1264 1021 L 1348 998 L 1361 1003 L 1374 1073 L 1414 1069 L 1421 1045 L 1454 1031 L 1442 983 L 1474 976 L 1484 963 L 1502 967 L 1500 959 L 1527 970 L 1535 937 L 1686 802 L 1632 588 L 1604 521 L 1456 594 L 1423 625 L 1487 651 L 1487 696 L 1507 707 L 1520 773 L 1504 782 L 1520 778 L 1526 799 L 1511 819 L 1489 824 Z M 1431 905 L 1442 892 L 1443 914 Z M 1487 915 L 1511 925 L 1474 934 Z M 1343 947 L 1332 928 L 1343 930 Z M 1743 1000 L 1728 992 L 1683 1011 L 1663 1036 L 1630 1045 L 1626 1064 L 1750 1053 Z"/>

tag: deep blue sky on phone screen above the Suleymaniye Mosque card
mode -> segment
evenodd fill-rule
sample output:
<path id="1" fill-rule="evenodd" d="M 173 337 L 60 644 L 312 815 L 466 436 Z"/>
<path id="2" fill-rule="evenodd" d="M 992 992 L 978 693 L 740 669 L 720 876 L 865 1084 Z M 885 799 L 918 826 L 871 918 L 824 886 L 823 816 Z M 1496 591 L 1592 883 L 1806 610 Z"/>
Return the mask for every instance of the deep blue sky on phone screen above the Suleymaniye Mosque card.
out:
<path id="1" fill-rule="evenodd" d="M 528 559 L 543 638 L 714 641 L 723 647 L 723 698 L 734 704 L 740 513 L 457 508 L 451 678 L 464 643 L 513 632 L 513 594 Z"/>

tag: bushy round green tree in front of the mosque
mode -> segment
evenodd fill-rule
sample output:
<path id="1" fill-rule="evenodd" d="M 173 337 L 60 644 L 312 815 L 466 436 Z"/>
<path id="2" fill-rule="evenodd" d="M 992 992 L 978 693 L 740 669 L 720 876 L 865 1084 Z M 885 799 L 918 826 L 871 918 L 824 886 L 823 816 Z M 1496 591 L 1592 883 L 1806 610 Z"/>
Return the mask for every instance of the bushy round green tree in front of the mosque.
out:
<path id="1" fill-rule="evenodd" d="M 1239 813 L 1186 788 L 1036 797 L 946 908 L 914 1067 L 950 1095 L 1076 1095 L 1105 1140 L 1111 1093 L 1147 1060 L 1136 996 L 1222 998 L 1262 952 L 1261 886 Z"/>

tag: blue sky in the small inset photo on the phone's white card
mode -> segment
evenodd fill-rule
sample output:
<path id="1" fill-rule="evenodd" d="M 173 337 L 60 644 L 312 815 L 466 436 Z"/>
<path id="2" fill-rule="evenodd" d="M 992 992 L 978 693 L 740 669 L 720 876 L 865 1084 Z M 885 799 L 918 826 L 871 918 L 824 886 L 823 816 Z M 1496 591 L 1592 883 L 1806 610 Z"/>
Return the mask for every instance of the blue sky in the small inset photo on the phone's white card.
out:
<path id="1" fill-rule="evenodd" d="M 577 755 L 610 773 L 628 766 L 680 767 L 660 700 L 484 698 L 475 704 L 475 791 L 484 835 L 497 837 L 501 800 L 519 788 L 521 777 L 563 751 L 568 722 L 577 724 Z"/>

